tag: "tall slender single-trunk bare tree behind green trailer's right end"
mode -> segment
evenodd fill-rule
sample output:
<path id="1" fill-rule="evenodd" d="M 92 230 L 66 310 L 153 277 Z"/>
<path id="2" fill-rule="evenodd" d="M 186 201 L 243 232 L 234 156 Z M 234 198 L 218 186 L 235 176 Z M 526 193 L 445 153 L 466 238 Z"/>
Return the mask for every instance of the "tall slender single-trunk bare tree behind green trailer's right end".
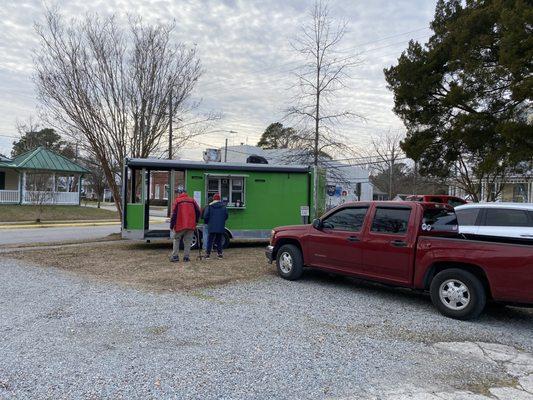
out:
<path id="1" fill-rule="evenodd" d="M 347 22 L 336 24 L 326 2 L 317 0 L 310 20 L 291 43 L 304 62 L 296 69 L 294 105 L 287 109 L 287 118 L 300 126 L 298 142 L 302 153 L 311 155 L 318 167 L 323 155 L 347 149 L 344 138 L 334 128 L 346 118 L 359 117 L 349 110 L 335 108 L 335 96 L 347 87 L 349 71 L 360 61 L 339 50 L 347 31 Z M 318 186 L 315 174 L 315 188 Z M 314 190 L 314 212 L 318 192 Z"/>

